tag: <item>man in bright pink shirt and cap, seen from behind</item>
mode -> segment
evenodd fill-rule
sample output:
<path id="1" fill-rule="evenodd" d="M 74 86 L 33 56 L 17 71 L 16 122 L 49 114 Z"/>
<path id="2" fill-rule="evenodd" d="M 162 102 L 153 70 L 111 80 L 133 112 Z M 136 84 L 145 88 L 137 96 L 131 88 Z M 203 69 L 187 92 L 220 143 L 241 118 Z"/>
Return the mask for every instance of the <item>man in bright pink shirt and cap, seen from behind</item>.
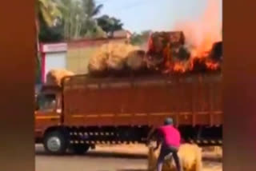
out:
<path id="1" fill-rule="evenodd" d="M 157 146 L 154 150 L 158 149 L 160 142 L 162 142 L 162 147 L 158 157 L 157 171 L 162 171 L 162 164 L 165 157 L 169 154 L 172 154 L 172 157 L 174 157 L 177 171 L 182 171 L 182 165 L 178 158 L 178 148 L 181 142 L 181 135 L 178 129 L 174 128 L 172 118 L 166 118 L 164 125 L 160 126 L 155 133 L 158 140 Z M 150 137 L 152 135 L 150 135 Z"/>

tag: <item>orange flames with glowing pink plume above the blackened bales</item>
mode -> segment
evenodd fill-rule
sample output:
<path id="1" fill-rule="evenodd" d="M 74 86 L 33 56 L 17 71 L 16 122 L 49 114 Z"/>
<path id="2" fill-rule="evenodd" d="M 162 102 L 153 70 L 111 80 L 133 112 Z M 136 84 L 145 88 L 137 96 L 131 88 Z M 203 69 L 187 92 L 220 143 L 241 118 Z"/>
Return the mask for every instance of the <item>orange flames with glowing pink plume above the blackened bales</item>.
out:
<path id="1" fill-rule="evenodd" d="M 190 70 L 194 69 L 195 58 L 207 58 L 214 42 L 222 41 L 220 26 L 218 25 L 218 4 L 217 0 L 207 0 L 207 6 L 202 18 L 195 22 L 178 23 L 177 30 L 182 30 L 186 42 L 190 46 Z M 217 70 L 219 64 L 208 60 L 206 67 L 209 70 Z M 183 67 L 183 69 L 182 69 Z M 181 63 L 174 64 L 174 71 L 184 72 L 185 67 Z"/>

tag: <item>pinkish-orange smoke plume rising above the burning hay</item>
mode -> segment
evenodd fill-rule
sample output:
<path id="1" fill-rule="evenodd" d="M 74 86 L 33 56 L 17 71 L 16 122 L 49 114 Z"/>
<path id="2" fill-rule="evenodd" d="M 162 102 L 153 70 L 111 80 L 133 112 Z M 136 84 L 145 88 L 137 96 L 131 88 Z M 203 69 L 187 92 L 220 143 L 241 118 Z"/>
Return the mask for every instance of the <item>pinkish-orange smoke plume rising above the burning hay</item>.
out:
<path id="1" fill-rule="evenodd" d="M 214 42 L 222 41 L 222 29 L 218 23 L 220 2 L 207 0 L 206 10 L 197 20 L 176 23 L 175 30 L 184 32 L 187 46 L 193 49 L 192 55 L 202 56 Z"/>

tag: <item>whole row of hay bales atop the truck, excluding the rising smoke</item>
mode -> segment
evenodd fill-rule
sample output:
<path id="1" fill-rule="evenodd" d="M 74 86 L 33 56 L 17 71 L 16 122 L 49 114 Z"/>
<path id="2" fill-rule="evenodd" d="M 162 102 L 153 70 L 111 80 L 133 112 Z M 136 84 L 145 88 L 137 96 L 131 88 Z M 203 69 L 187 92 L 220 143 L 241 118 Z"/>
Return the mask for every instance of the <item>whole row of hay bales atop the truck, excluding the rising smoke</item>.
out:
<path id="1" fill-rule="evenodd" d="M 103 45 L 90 58 L 88 70 L 92 75 L 101 76 L 150 74 L 150 71 L 158 74 L 202 73 L 220 70 L 221 62 L 222 42 L 206 41 L 206 46 L 195 47 L 186 43 L 182 31 L 156 32 L 150 36 L 146 52 L 125 43 Z"/>

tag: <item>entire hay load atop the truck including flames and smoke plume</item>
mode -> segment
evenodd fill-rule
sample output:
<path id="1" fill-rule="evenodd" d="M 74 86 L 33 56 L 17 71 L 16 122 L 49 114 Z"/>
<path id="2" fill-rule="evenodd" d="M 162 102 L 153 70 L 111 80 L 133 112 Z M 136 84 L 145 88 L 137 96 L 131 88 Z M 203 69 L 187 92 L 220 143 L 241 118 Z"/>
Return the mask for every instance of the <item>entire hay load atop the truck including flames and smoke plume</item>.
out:
<path id="1" fill-rule="evenodd" d="M 218 1 L 209 0 L 198 20 L 176 23 L 175 30 L 179 31 L 154 32 L 145 54 L 127 44 L 102 46 L 90 60 L 90 74 L 127 69 L 158 74 L 219 71 L 223 57 L 218 10 Z"/>

